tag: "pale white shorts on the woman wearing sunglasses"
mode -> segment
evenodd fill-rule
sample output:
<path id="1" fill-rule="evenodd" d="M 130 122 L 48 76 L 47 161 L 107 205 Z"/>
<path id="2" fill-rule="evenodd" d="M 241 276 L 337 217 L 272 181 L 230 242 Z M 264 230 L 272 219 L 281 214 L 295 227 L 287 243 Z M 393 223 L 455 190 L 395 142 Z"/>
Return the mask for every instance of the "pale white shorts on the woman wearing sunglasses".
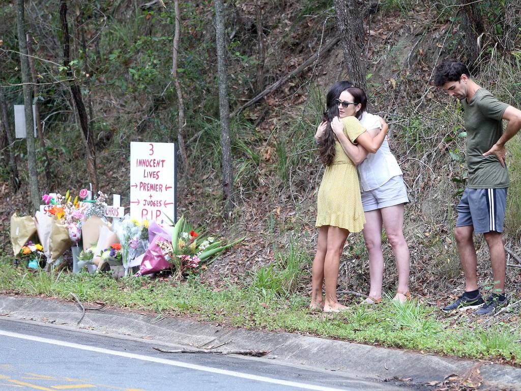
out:
<path id="1" fill-rule="evenodd" d="M 376 189 L 362 191 L 361 195 L 364 212 L 409 202 L 402 175 L 392 177 Z"/>

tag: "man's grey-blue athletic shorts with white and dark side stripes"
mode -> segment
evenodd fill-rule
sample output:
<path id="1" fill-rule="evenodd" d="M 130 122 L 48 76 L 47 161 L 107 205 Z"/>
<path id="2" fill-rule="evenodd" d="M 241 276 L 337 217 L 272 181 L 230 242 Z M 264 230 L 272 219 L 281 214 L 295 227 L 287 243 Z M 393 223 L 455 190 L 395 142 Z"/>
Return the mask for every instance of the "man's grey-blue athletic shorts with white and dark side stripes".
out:
<path id="1" fill-rule="evenodd" d="M 506 190 L 469 189 L 463 192 L 460 203 L 456 206 L 456 227 L 474 226 L 476 234 L 490 231 L 503 232 L 506 209 Z"/>

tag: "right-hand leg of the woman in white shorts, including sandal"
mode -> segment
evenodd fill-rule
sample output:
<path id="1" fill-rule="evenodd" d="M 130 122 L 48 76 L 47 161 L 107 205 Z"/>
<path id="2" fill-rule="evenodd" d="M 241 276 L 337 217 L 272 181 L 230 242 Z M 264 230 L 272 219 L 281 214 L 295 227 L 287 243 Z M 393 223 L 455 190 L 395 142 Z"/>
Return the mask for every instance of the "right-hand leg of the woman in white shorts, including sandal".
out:
<path id="1" fill-rule="evenodd" d="M 407 292 L 409 290 L 409 249 L 403 236 L 403 209 L 404 204 L 388 206 L 380 209 L 383 226 L 386 229 L 387 238 L 391 243 L 396 259 L 398 270 L 398 290 Z M 394 299 L 401 302 L 406 300 L 405 295 L 396 294 Z"/>

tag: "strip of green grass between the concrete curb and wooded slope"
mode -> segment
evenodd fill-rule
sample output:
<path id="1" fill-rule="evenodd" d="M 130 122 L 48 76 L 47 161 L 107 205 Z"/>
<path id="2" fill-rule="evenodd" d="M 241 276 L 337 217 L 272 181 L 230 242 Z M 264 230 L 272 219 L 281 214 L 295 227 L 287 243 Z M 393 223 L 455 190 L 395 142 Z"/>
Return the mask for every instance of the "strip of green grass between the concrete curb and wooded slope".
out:
<path id="1" fill-rule="evenodd" d="M 109 306 L 158 315 L 188 316 L 200 321 L 269 331 L 299 332 L 386 347 L 443 355 L 507 361 L 521 365 L 521 336 L 511 325 L 485 328 L 479 319 L 445 318 L 417 301 L 404 305 L 358 306 L 326 315 L 307 308 L 301 294 L 280 297 L 263 287 L 229 285 L 217 290 L 197 281 L 121 278 L 107 275 L 28 272 L 0 261 L 0 292 L 45 295 L 71 300 L 104 301 Z M 266 302 L 265 300 L 269 300 Z M 358 299 L 353 300 L 358 303 Z M 481 319 L 482 321 L 482 319 Z"/>

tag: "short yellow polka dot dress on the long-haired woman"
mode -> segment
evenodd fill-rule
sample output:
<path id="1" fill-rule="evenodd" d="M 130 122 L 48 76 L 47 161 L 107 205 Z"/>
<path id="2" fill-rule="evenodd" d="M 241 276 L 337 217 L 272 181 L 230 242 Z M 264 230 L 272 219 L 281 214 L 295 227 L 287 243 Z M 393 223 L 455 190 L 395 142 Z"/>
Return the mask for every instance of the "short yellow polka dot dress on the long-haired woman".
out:
<path id="1" fill-rule="evenodd" d="M 344 134 L 353 142 L 365 132 L 356 117 L 341 118 Z M 360 198 L 356 166 L 335 141 L 333 163 L 326 167 L 317 200 L 316 227 L 332 225 L 359 232 L 364 228 L 365 216 Z"/>

